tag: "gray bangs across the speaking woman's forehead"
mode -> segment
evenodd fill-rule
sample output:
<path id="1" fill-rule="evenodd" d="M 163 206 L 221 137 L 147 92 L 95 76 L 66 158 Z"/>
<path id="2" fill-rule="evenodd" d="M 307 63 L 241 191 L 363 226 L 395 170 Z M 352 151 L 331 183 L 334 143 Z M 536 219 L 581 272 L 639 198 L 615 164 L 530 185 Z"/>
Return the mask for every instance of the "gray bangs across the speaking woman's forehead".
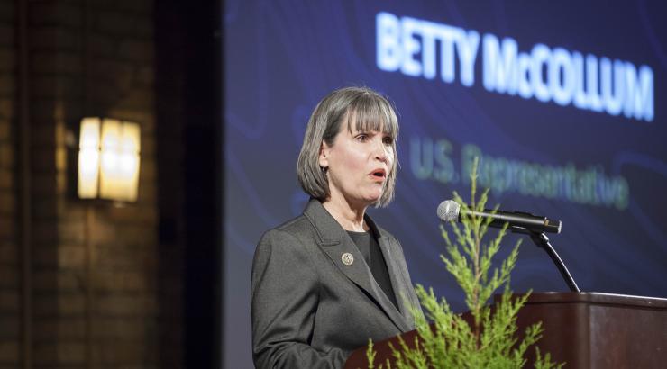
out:
<path id="1" fill-rule="evenodd" d="M 354 130 L 369 132 L 371 130 L 381 131 L 392 139 L 398 136 L 398 120 L 390 103 L 378 95 L 361 94 L 358 99 L 350 104 L 348 110 L 347 129 L 352 133 L 352 122 Z"/>

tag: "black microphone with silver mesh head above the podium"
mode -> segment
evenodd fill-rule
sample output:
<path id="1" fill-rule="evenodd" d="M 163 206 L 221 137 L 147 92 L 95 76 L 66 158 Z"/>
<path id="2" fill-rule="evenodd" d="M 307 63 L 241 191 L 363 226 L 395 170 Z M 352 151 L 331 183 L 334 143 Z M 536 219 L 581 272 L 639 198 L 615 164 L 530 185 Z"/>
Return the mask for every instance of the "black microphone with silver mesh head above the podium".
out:
<path id="1" fill-rule="evenodd" d="M 536 216 L 527 212 L 509 212 L 485 209 L 484 211 L 461 211 L 461 205 L 453 200 L 445 200 L 438 205 L 438 218 L 443 221 L 461 221 L 464 216 L 478 216 L 484 220 L 491 219 L 489 227 L 502 228 L 509 223 L 507 229 L 526 233 L 561 233 L 561 220 L 549 220 L 545 217 Z"/>

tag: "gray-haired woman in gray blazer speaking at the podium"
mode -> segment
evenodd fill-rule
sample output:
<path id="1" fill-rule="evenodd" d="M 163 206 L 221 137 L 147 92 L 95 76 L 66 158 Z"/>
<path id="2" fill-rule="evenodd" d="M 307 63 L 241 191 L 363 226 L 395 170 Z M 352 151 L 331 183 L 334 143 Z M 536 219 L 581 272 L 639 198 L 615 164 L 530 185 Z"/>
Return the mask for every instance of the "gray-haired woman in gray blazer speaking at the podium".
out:
<path id="1" fill-rule="evenodd" d="M 297 161 L 311 200 L 255 250 L 258 368 L 340 368 L 369 338 L 415 329 L 403 250 L 365 213 L 393 198 L 397 134 L 391 104 L 369 88 L 336 90 L 315 107 Z"/>

